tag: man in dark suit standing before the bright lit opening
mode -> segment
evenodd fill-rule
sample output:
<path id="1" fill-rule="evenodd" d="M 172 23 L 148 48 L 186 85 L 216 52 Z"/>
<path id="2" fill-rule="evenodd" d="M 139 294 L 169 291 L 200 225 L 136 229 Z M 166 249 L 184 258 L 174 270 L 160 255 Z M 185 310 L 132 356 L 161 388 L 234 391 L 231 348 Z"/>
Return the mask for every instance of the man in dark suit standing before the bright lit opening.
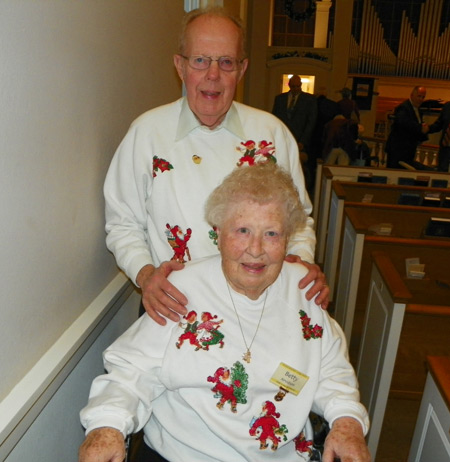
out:
<path id="1" fill-rule="evenodd" d="M 289 91 L 275 97 L 272 114 L 281 119 L 294 135 L 300 151 L 309 152 L 311 135 L 316 125 L 315 96 L 302 91 L 300 76 L 289 79 Z"/>

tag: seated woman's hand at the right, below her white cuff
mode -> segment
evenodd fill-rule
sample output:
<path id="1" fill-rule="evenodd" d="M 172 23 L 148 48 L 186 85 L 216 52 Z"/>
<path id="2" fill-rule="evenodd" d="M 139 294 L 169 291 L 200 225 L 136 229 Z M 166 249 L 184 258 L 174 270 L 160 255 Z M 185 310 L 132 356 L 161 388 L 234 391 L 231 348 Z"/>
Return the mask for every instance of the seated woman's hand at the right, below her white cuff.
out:
<path id="1" fill-rule="evenodd" d="M 333 422 L 325 440 L 323 462 L 370 462 L 369 448 L 361 424 L 352 417 L 341 417 Z"/>

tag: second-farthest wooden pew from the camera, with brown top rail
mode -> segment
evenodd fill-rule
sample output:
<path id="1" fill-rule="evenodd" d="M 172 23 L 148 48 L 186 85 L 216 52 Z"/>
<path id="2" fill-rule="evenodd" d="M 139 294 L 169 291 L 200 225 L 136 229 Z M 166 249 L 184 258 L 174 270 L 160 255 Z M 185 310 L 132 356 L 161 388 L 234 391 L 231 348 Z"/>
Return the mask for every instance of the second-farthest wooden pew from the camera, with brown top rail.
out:
<path id="1" fill-rule="evenodd" d="M 448 188 L 365 184 L 340 180 L 333 180 L 331 188 L 329 220 L 323 259 L 323 272 L 330 287 L 330 301 L 334 299 L 345 204 L 364 206 L 365 203 L 398 205 L 400 202 L 404 204 L 417 202 L 421 206 L 429 206 L 430 204 L 434 206 L 450 206 L 450 189 Z M 369 199 L 370 202 L 367 202 Z"/>

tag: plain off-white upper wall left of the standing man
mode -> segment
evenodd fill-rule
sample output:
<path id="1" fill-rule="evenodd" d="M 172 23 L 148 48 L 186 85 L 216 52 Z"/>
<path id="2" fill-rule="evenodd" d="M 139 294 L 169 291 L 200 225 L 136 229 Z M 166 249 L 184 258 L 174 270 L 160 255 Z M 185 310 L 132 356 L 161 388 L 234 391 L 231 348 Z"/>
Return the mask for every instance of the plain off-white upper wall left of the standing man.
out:
<path id="1" fill-rule="evenodd" d="M 183 0 L 0 2 L 0 401 L 117 274 L 102 185 L 176 99 Z"/>

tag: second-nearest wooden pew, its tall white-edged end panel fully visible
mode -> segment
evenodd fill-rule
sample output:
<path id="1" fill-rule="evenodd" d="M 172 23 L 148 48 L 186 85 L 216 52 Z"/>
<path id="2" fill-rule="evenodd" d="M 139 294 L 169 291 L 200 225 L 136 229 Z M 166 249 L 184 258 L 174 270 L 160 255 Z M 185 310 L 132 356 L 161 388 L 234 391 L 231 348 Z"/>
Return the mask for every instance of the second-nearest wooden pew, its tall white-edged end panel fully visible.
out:
<path id="1" fill-rule="evenodd" d="M 450 354 L 450 286 L 436 283 L 442 278 L 442 265 L 448 264 L 450 248 L 428 249 L 422 280 L 405 277 L 403 257 L 372 254 L 357 375 L 361 401 L 371 420 L 368 445 L 373 460 L 378 444 L 383 446 L 380 434 L 389 396 L 403 393 L 420 400 L 426 381 L 426 357 Z M 401 420 L 398 415 L 391 418 Z M 412 434 L 409 436 L 412 438 Z"/>

